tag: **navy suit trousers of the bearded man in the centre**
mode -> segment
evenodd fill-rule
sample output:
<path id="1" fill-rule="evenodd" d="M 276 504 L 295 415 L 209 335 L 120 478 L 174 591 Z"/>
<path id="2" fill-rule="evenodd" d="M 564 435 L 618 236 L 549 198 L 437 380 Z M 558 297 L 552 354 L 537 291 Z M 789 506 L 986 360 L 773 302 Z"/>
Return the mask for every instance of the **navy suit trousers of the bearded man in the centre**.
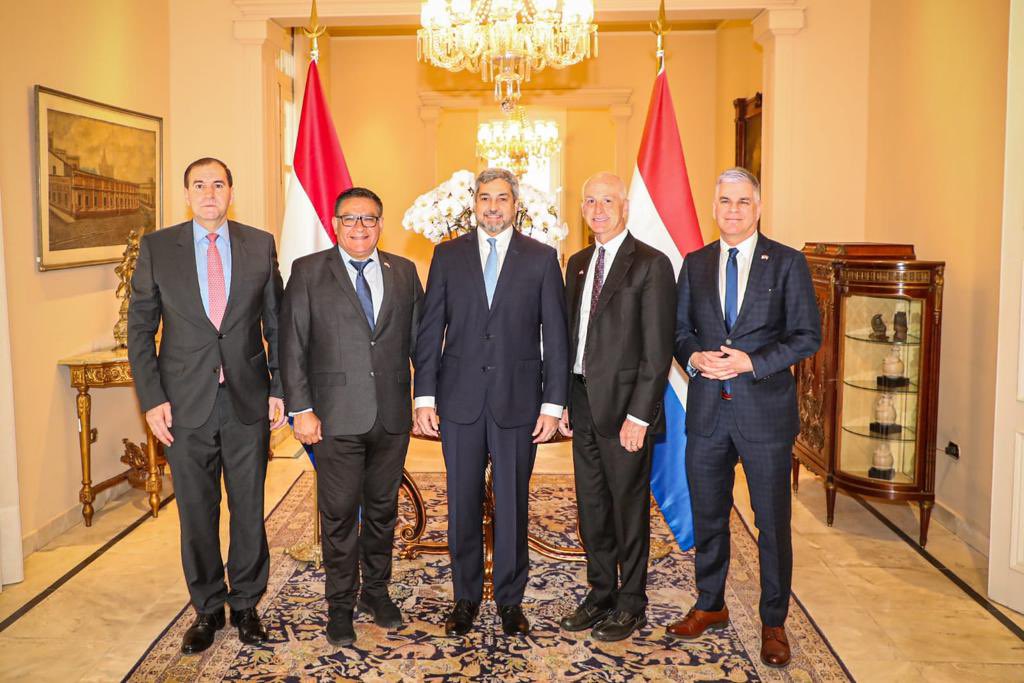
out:
<path id="1" fill-rule="evenodd" d="M 449 553 L 456 600 L 483 595 L 483 482 L 490 457 L 495 494 L 495 602 L 522 602 L 529 575 L 529 476 L 537 445 L 534 425 L 500 427 L 484 409 L 472 424 L 441 420 L 447 470 Z"/>

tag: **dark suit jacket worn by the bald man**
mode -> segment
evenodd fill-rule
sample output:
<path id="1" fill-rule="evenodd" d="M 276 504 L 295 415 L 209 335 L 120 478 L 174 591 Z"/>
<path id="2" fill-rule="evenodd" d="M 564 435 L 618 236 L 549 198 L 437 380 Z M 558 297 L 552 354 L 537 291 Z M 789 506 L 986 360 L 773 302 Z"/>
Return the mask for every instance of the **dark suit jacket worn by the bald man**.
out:
<path id="1" fill-rule="evenodd" d="M 570 368 L 580 344 L 580 297 L 596 248 L 591 245 L 574 254 L 565 269 Z M 584 349 L 587 397 L 602 436 L 616 437 L 627 415 L 648 423 L 650 433 L 665 431 L 662 402 L 672 366 L 675 315 L 676 284 L 669 257 L 627 234 L 605 274 Z"/>

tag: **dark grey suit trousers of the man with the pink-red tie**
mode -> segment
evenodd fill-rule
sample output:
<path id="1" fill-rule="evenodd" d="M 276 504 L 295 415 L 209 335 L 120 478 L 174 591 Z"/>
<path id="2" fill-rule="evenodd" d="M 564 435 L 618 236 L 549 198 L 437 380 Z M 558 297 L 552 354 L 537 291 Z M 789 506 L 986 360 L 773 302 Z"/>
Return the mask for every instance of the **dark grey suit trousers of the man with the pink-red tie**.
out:
<path id="1" fill-rule="evenodd" d="M 266 417 L 241 422 L 227 389 L 221 386 L 213 411 L 199 427 L 171 429 L 165 449 L 174 479 L 181 525 L 181 564 L 193 605 L 199 612 L 253 607 L 266 590 L 270 553 L 263 526 L 270 425 Z M 220 478 L 227 489 L 230 546 L 227 581 L 220 555 Z"/>

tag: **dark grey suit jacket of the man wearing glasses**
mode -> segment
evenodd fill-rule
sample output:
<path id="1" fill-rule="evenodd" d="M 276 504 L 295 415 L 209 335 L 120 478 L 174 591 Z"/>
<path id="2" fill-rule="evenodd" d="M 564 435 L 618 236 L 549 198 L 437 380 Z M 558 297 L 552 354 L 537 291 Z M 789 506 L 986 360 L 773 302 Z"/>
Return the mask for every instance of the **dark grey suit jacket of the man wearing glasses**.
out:
<path id="1" fill-rule="evenodd" d="M 378 251 L 384 278 L 373 332 L 337 247 L 292 266 L 281 310 L 281 374 L 288 410 L 313 409 L 324 434 L 365 434 L 379 416 L 392 434 L 412 427 L 410 357 L 423 288 L 412 261 Z"/>

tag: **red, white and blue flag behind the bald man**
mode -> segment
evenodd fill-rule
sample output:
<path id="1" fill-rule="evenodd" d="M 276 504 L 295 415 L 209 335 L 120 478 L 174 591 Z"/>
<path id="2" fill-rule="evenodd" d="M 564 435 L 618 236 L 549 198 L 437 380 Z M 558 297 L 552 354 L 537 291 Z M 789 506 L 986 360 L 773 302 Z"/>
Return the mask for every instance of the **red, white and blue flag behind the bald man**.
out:
<path id="1" fill-rule="evenodd" d="M 630 183 L 628 227 L 636 239 L 664 252 L 677 276 L 683 257 L 703 246 L 664 62 Z M 665 392 L 666 433 L 654 441 L 650 472 L 651 492 L 683 550 L 693 547 L 686 483 L 686 373 L 673 361 Z"/>

